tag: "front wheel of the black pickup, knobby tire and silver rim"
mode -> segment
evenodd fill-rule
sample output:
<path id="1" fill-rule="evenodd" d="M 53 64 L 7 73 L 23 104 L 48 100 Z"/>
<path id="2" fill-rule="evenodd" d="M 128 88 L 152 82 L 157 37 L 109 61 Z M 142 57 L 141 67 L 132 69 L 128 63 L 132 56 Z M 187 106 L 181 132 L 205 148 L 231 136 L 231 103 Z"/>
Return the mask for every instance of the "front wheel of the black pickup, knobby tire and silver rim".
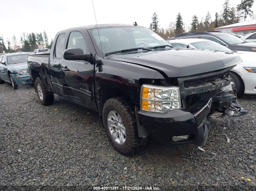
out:
<path id="1" fill-rule="evenodd" d="M 102 111 L 103 125 L 113 147 L 122 154 L 134 154 L 138 148 L 135 111 L 123 98 L 106 101 Z"/>

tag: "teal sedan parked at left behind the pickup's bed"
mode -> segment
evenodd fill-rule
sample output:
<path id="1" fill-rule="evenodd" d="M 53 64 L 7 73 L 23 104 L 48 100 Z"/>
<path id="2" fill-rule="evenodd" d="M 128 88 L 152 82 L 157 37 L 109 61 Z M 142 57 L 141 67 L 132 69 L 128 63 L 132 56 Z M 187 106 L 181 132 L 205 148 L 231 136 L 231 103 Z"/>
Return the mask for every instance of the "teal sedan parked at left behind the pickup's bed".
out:
<path id="1" fill-rule="evenodd" d="M 8 82 L 13 89 L 19 85 L 32 84 L 28 73 L 28 55 L 33 53 L 10 53 L 0 56 L 0 84 Z"/>

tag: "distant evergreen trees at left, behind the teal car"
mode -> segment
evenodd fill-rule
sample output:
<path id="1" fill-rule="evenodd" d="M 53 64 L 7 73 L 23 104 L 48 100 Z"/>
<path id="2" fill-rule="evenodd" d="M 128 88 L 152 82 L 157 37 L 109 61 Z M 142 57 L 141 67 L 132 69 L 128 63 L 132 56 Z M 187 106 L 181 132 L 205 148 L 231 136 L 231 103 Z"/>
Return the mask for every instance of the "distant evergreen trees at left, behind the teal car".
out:
<path id="1" fill-rule="evenodd" d="M 9 40 L 7 38 L 7 47 L 5 46 L 4 37 L 3 35 L 0 35 L 0 48 L 2 53 L 5 51 L 5 53 L 11 53 L 16 52 L 17 50 L 14 50 L 14 47 L 18 46 L 18 51 L 22 52 L 32 52 L 34 49 L 38 48 L 38 45 L 43 45 L 44 48 L 51 48 L 53 43 L 53 39 L 48 41 L 48 36 L 45 30 L 40 33 L 25 33 L 23 32 L 20 35 L 20 40 L 17 39 L 15 35 L 12 36 L 12 39 Z"/>

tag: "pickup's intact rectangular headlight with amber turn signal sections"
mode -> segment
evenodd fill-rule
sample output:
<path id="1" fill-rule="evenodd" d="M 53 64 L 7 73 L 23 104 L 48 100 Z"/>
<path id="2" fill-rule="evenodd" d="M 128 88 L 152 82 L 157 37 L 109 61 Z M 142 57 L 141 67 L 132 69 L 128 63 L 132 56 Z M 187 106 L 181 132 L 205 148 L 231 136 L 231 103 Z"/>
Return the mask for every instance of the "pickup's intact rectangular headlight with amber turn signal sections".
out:
<path id="1" fill-rule="evenodd" d="M 141 87 L 141 110 L 166 112 L 181 108 L 179 87 L 143 84 Z"/>

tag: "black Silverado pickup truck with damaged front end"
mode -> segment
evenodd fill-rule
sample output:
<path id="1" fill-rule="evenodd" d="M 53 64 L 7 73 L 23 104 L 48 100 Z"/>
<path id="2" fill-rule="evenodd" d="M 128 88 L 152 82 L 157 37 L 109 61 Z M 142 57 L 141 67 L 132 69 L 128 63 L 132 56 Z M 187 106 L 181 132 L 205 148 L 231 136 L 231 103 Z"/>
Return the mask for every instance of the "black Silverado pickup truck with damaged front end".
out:
<path id="1" fill-rule="evenodd" d="M 95 110 L 111 144 L 132 154 L 150 135 L 164 143 L 204 145 L 215 111 L 248 113 L 234 96 L 231 53 L 175 49 L 148 28 L 76 27 L 56 34 L 50 54 L 28 56 L 43 105 L 54 94 Z"/>

